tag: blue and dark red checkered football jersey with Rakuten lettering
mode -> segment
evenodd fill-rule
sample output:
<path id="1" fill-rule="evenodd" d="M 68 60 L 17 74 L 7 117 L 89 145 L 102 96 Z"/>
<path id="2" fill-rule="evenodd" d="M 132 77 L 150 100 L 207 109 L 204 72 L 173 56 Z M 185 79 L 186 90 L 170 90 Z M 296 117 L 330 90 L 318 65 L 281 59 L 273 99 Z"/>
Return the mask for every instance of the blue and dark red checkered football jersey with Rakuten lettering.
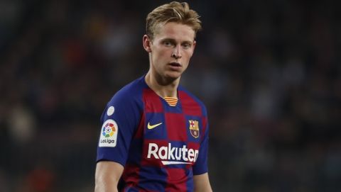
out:
<path id="1" fill-rule="evenodd" d="M 97 162 L 124 166 L 119 191 L 193 191 L 193 175 L 207 172 L 206 108 L 182 86 L 170 106 L 136 79 L 112 97 L 101 121 Z"/>

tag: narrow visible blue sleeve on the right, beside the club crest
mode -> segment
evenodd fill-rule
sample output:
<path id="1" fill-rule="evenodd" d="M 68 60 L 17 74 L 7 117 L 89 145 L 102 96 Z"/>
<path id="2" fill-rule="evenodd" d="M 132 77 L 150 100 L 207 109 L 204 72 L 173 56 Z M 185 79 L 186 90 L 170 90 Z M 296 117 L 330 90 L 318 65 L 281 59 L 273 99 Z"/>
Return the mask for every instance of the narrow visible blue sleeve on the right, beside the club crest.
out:
<path id="1" fill-rule="evenodd" d="M 205 111 L 206 114 L 206 111 Z M 205 174 L 207 169 L 207 154 L 208 154 L 208 132 L 209 132 L 209 125 L 207 116 L 202 118 L 202 140 L 200 142 L 199 154 L 197 157 L 197 162 L 195 162 L 193 166 L 193 175 L 200 175 Z"/>

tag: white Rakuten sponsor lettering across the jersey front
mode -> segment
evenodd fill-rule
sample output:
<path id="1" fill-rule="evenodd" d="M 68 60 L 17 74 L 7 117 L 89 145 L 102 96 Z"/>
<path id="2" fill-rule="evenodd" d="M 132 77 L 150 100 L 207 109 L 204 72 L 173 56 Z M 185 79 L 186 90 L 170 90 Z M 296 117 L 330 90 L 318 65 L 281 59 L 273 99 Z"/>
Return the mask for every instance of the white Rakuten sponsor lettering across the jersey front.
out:
<path id="1" fill-rule="evenodd" d="M 156 143 L 149 143 L 147 158 L 162 159 L 162 164 L 191 164 L 197 161 L 199 150 L 183 147 L 172 147 L 171 143 L 167 146 L 158 147 Z M 172 161 L 177 160 L 177 161 Z"/>

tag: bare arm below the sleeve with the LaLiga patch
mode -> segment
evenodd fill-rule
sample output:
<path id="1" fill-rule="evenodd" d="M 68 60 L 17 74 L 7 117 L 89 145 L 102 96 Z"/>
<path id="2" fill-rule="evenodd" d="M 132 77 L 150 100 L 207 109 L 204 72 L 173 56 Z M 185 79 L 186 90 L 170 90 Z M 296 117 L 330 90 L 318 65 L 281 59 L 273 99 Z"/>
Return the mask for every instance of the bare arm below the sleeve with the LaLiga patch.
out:
<path id="1" fill-rule="evenodd" d="M 121 178 L 124 167 L 117 162 L 98 162 L 94 176 L 95 192 L 118 191 L 117 183 Z"/>

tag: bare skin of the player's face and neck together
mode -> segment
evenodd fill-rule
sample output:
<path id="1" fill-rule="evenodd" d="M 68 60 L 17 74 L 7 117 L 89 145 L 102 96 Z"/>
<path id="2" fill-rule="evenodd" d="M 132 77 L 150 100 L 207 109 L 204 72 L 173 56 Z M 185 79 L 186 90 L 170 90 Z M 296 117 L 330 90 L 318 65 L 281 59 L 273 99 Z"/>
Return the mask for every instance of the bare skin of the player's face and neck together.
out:
<path id="1" fill-rule="evenodd" d="M 160 25 L 153 40 L 147 35 L 143 38 L 150 66 L 146 83 L 161 97 L 176 97 L 181 74 L 187 69 L 195 49 L 195 32 L 180 23 Z"/>

